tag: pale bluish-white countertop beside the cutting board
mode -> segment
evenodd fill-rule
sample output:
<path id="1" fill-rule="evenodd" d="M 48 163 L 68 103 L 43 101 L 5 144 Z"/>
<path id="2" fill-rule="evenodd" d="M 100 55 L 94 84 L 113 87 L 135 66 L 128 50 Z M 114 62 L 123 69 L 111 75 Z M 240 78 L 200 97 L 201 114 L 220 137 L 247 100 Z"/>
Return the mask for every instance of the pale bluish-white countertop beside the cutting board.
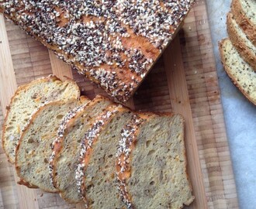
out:
<path id="1" fill-rule="evenodd" d="M 218 41 L 227 37 L 231 0 L 206 0 L 230 155 L 240 209 L 256 208 L 256 106 L 238 91 L 223 70 Z"/>

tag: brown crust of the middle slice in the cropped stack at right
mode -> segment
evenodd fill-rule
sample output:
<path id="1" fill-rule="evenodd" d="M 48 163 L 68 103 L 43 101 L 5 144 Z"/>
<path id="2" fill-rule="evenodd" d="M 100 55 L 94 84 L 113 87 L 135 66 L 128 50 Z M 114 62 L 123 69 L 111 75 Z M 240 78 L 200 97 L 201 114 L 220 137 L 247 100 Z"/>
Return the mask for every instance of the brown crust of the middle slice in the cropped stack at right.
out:
<path id="1" fill-rule="evenodd" d="M 240 56 L 251 65 L 254 71 L 256 71 L 256 55 L 247 47 L 244 39 L 242 39 L 237 33 L 237 30 L 232 23 L 233 18 L 234 15 L 232 13 L 227 13 L 227 33 L 230 37 L 230 41 L 236 47 L 237 51 L 240 53 Z"/>

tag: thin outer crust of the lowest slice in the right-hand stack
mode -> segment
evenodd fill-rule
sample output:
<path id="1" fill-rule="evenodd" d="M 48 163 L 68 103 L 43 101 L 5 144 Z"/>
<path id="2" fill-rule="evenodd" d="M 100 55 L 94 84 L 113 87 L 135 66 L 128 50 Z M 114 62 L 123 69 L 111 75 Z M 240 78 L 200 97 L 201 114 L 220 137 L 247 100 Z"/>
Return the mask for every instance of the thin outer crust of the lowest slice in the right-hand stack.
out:
<path id="1" fill-rule="evenodd" d="M 251 101 L 252 104 L 256 105 L 256 101 L 254 101 L 249 94 L 247 94 L 246 91 L 244 91 L 244 89 L 242 87 L 240 87 L 239 84 L 237 84 L 236 78 L 230 73 L 230 67 L 225 63 L 225 57 L 224 57 L 224 52 L 223 52 L 223 45 L 224 43 L 228 41 L 228 38 L 226 39 L 222 39 L 219 42 L 219 51 L 220 51 L 220 59 L 221 62 L 223 63 L 223 67 L 225 69 L 225 71 L 227 72 L 227 75 L 230 77 L 231 81 L 233 81 L 234 85 L 240 90 L 240 92 L 242 92 L 242 94 L 244 94 L 244 96 L 248 99 L 248 101 Z"/>

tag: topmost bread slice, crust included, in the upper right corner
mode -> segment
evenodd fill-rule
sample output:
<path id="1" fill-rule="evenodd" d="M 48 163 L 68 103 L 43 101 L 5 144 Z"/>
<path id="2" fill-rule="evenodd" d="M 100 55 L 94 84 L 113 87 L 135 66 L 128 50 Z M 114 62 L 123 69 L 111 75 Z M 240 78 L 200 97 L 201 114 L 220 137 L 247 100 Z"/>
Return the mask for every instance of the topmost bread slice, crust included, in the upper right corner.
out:
<path id="1" fill-rule="evenodd" d="M 256 46 L 256 2 L 255 0 L 233 0 L 231 12 L 238 25 Z"/>

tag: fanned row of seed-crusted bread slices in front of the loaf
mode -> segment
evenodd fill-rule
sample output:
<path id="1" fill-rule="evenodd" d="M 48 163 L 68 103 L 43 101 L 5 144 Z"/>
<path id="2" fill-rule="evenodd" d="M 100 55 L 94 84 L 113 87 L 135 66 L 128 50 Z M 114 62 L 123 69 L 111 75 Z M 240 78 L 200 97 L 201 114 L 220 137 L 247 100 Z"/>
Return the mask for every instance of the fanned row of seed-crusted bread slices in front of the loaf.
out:
<path id="1" fill-rule="evenodd" d="M 71 80 L 19 87 L 2 145 L 20 184 L 86 208 L 182 208 L 194 199 L 181 115 L 91 101 Z"/>

